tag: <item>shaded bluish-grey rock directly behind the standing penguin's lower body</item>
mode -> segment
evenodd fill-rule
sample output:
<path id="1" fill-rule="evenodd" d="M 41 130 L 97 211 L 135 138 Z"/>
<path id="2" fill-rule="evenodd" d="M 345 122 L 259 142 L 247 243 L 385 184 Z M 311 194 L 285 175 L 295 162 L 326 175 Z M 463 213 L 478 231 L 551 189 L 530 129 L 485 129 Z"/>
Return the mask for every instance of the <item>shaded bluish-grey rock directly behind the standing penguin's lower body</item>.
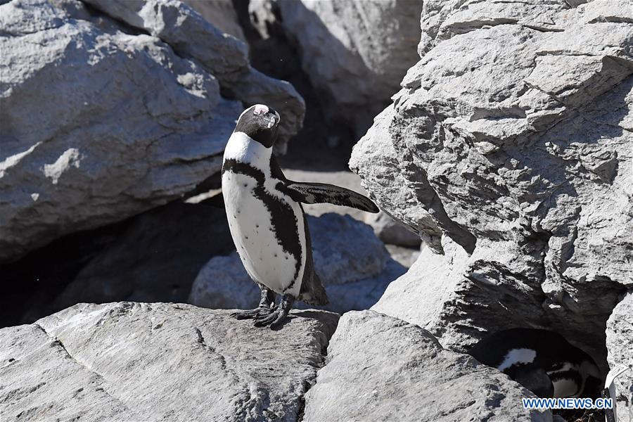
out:
<path id="1" fill-rule="evenodd" d="M 325 309 L 367 309 L 392 280 L 406 271 L 390 259 L 383 243 L 366 224 L 335 214 L 308 216 L 307 221 L 314 267 L 330 299 Z M 237 252 L 207 262 L 188 298 L 194 305 L 221 309 L 252 309 L 259 300 L 259 288 L 246 274 Z"/>

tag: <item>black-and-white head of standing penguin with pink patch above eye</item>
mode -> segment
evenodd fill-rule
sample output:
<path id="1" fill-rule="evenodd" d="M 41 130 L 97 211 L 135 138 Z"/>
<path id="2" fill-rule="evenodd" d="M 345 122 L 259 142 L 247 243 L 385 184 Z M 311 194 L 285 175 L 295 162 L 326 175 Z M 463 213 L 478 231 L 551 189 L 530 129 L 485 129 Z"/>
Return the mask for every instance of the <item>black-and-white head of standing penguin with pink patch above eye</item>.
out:
<path id="1" fill-rule="evenodd" d="M 271 148 L 277 139 L 279 122 L 279 113 L 264 104 L 255 104 L 242 112 L 234 132 L 243 132 L 253 141 Z"/>

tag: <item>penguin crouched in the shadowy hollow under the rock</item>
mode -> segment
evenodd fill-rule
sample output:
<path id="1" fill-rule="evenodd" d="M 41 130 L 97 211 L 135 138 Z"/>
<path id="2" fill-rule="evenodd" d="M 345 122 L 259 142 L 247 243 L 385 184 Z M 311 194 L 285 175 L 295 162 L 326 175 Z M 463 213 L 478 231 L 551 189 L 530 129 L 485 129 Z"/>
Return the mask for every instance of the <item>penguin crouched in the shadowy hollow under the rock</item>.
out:
<path id="1" fill-rule="evenodd" d="M 498 331 L 476 343 L 468 354 L 539 397 L 596 399 L 601 395 L 601 375 L 594 359 L 552 331 Z"/>

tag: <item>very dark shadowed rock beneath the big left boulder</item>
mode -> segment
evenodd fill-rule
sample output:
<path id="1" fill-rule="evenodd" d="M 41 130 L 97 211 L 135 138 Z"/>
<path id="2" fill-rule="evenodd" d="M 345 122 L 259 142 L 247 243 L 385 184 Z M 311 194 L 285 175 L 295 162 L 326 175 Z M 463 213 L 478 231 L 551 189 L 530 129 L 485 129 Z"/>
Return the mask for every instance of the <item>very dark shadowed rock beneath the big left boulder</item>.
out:
<path id="1" fill-rule="evenodd" d="M 134 217 L 56 298 L 79 302 L 184 302 L 210 257 L 235 250 L 226 214 L 212 200 L 174 202 Z"/>

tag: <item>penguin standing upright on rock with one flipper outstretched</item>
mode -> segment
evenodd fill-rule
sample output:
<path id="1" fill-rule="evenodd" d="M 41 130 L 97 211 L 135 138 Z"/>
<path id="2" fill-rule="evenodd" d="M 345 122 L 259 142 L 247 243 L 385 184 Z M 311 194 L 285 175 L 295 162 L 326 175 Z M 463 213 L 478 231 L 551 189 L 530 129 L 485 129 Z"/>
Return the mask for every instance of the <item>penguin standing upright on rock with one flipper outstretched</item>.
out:
<path id="1" fill-rule="evenodd" d="M 281 117 L 256 104 L 243 111 L 224 149 L 222 195 L 231 236 L 250 278 L 261 289 L 260 305 L 232 314 L 255 326 L 281 327 L 295 300 L 327 305 L 314 271 L 302 203 L 347 205 L 378 212 L 369 198 L 349 189 L 286 179 L 272 153 Z M 276 295 L 281 295 L 275 305 Z"/>

